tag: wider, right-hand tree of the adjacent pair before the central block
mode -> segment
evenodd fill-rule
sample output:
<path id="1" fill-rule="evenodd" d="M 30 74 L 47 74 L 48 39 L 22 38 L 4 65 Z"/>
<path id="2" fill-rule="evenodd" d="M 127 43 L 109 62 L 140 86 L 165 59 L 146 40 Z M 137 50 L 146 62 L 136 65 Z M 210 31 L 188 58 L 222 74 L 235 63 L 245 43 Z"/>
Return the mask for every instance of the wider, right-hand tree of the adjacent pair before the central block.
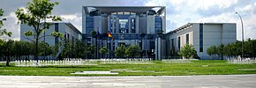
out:
<path id="1" fill-rule="evenodd" d="M 128 48 L 125 49 L 125 54 L 128 57 L 134 57 L 134 56 L 139 56 L 139 51 L 141 49 L 139 48 L 139 45 L 137 44 L 132 44 Z"/>

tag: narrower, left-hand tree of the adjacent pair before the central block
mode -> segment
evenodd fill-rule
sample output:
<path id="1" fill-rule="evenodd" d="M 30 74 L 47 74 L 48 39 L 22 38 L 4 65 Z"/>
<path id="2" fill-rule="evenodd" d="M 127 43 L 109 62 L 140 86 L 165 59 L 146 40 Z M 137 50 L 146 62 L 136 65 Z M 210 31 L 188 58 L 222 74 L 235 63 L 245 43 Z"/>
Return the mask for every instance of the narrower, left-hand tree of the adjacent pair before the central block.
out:
<path id="1" fill-rule="evenodd" d="M 115 55 L 117 57 L 123 58 L 125 55 L 125 46 L 121 44 L 121 46 L 118 46 L 117 49 L 115 49 Z"/>

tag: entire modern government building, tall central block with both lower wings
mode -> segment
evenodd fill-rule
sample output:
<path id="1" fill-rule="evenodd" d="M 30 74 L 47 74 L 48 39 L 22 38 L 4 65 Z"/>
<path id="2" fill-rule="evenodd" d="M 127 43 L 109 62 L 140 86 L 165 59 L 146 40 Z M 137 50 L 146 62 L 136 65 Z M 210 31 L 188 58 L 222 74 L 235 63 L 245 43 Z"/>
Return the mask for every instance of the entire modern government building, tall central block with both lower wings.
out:
<path id="1" fill-rule="evenodd" d="M 45 34 L 56 31 L 64 33 L 65 39 L 82 39 L 87 46 L 94 45 L 96 51 L 89 52 L 94 54 L 87 53 L 85 58 L 116 58 L 114 51 L 118 46 L 137 44 L 142 49 L 139 57 L 161 60 L 175 56 L 188 43 L 194 46 L 200 59 L 210 59 L 207 48 L 237 40 L 233 23 L 188 23 L 166 33 L 165 9 L 165 6 L 83 6 L 82 33 L 71 23 L 51 23 Z M 20 25 L 20 28 L 20 40 L 27 40 L 23 33 L 33 27 Z M 109 33 L 112 38 L 108 37 Z M 59 40 L 45 37 L 51 46 Z M 109 48 L 108 55 L 98 52 L 102 47 Z"/>

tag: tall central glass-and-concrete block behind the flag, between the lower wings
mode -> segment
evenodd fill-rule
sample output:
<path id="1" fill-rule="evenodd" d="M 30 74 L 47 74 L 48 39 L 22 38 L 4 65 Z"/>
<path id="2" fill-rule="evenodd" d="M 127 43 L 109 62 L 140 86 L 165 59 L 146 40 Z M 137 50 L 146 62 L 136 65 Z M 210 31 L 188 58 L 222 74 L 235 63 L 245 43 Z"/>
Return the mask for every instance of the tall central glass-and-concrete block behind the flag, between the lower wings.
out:
<path id="1" fill-rule="evenodd" d="M 97 53 L 91 58 L 115 57 L 114 50 L 118 45 L 138 44 L 143 56 L 158 55 L 156 46 L 157 33 L 165 33 L 166 11 L 164 6 L 83 6 L 82 33 L 87 45 L 109 48 L 109 55 Z M 111 33 L 113 40 L 97 36 Z"/>

